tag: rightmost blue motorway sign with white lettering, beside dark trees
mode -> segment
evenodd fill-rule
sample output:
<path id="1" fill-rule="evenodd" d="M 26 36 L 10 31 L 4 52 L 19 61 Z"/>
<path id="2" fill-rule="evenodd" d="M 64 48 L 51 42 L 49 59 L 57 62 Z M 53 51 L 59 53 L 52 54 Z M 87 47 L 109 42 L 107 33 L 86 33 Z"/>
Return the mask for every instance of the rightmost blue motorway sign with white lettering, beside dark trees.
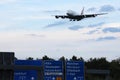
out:
<path id="1" fill-rule="evenodd" d="M 84 62 L 66 62 L 66 80 L 84 80 Z"/>

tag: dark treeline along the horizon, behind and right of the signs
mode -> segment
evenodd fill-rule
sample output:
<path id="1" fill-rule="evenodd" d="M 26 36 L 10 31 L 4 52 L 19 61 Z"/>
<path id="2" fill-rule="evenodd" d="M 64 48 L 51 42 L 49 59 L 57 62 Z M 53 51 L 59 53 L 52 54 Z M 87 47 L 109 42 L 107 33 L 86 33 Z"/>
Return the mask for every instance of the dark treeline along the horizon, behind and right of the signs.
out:
<path id="1" fill-rule="evenodd" d="M 32 57 L 26 58 L 27 60 L 34 60 Z M 54 60 L 48 56 L 43 56 L 42 59 L 37 58 L 36 60 Z M 111 61 L 108 61 L 105 57 L 101 58 L 90 58 L 85 61 L 82 57 L 77 58 L 73 56 L 71 59 L 66 59 L 64 56 L 59 58 L 59 60 L 73 60 L 73 61 L 84 61 L 85 69 L 101 69 L 110 70 L 110 77 L 112 80 L 120 80 L 120 57 Z"/>

